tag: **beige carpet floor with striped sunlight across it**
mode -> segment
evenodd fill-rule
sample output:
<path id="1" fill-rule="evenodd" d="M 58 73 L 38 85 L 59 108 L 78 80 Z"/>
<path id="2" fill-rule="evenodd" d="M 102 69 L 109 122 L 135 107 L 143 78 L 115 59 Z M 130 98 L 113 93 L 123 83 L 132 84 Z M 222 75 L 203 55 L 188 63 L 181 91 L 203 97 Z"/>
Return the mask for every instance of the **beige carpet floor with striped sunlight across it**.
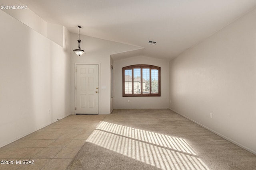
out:
<path id="1" fill-rule="evenodd" d="M 256 155 L 169 109 L 115 109 L 68 170 L 256 170 Z"/>

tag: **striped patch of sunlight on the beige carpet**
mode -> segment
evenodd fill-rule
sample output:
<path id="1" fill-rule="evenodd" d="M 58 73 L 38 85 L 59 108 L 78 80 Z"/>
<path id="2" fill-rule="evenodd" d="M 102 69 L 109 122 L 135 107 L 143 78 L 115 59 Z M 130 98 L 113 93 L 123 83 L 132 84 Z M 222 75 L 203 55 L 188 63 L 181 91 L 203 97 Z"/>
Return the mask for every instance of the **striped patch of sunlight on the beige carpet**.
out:
<path id="1" fill-rule="evenodd" d="M 86 142 L 161 168 L 209 170 L 185 139 L 100 122 Z"/>

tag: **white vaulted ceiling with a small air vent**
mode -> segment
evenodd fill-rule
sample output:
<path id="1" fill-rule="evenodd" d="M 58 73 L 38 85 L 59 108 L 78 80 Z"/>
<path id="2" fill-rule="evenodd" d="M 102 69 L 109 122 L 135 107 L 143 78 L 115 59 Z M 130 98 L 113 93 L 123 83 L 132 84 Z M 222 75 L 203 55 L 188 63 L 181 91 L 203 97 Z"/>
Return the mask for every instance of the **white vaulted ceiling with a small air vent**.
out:
<path id="1" fill-rule="evenodd" d="M 69 31 L 172 59 L 256 6 L 256 0 L 20 0 Z M 156 41 L 149 45 L 148 41 Z"/>

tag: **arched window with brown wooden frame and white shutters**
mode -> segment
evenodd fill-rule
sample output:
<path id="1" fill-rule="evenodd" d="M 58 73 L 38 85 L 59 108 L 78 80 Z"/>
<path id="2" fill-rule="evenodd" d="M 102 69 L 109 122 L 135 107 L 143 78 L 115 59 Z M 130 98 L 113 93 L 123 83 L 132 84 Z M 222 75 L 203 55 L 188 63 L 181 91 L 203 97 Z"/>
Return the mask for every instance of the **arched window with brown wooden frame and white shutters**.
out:
<path id="1" fill-rule="evenodd" d="M 144 64 L 123 67 L 123 96 L 161 96 L 160 67 Z"/>

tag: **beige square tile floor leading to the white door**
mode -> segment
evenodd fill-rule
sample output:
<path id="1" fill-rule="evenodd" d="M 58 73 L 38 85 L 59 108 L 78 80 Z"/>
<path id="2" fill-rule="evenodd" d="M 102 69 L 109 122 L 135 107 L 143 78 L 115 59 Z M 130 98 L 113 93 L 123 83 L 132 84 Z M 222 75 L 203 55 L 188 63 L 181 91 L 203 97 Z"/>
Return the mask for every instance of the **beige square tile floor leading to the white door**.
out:
<path id="1" fill-rule="evenodd" d="M 70 115 L 0 148 L 0 170 L 63 170 L 106 115 Z M 17 164 L 17 161 L 34 164 Z M 33 162 L 34 161 L 34 162 Z"/>

